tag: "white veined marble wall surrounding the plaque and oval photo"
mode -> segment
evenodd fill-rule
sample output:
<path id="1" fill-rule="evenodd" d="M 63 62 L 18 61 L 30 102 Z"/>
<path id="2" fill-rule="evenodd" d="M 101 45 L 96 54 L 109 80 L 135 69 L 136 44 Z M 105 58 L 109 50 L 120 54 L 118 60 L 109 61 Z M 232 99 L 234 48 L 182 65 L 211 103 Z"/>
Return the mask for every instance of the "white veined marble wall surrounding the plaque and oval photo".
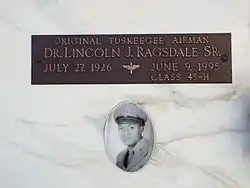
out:
<path id="1" fill-rule="evenodd" d="M 248 0 L 9 0 L 0 6 L 0 187 L 249 188 Z M 233 84 L 31 86 L 34 33 L 232 32 Z M 110 93 L 111 92 L 111 93 Z M 128 174 L 108 159 L 104 119 L 145 107 L 154 157 Z"/>

